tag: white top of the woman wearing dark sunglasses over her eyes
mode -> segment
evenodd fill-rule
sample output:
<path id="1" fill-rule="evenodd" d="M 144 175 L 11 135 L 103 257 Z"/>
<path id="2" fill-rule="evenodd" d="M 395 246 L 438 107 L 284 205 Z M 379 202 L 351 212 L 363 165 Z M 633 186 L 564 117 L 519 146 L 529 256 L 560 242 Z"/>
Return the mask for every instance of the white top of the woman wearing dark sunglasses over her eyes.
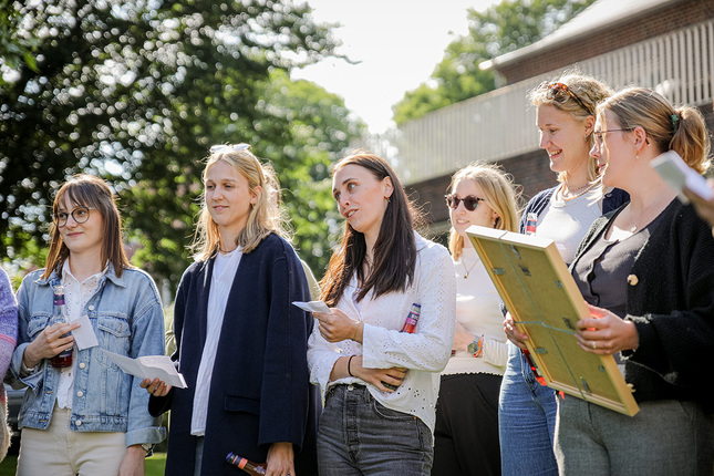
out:
<path id="1" fill-rule="evenodd" d="M 480 358 L 474 358 L 466 351 L 456 351 L 442 374 L 503 375 L 508 361 L 508 344 L 498 291 L 474 248 L 464 248 L 462 257 L 454 261 L 454 271 L 456 321 L 476 338 L 484 334 L 484 353 Z M 468 278 L 465 278 L 466 275 Z"/>

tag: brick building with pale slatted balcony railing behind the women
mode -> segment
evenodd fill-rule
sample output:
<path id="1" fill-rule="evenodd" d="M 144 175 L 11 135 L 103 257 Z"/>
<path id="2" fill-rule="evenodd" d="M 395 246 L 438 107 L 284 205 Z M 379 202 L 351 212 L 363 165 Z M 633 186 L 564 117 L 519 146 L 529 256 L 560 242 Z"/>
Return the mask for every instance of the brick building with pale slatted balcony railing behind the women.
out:
<path id="1" fill-rule="evenodd" d="M 365 144 L 392 161 L 436 235 L 448 229 L 443 195 L 451 175 L 470 162 L 501 164 L 525 198 L 557 183 L 526 95 L 565 70 L 615 90 L 655 89 L 674 104 L 700 107 L 712 130 L 714 0 L 598 0 L 549 37 L 480 68 L 494 70 L 501 87 Z"/>

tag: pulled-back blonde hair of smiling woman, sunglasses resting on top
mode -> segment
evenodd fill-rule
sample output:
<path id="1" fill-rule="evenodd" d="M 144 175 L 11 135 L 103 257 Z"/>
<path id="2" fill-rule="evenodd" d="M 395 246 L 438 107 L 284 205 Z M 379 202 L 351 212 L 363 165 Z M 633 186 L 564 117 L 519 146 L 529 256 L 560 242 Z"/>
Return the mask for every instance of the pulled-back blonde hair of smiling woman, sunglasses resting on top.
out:
<path id="1" fill-rule="evenodd" d="M 555 83 L 562 83 L 568 86 L 570 92 L 572 92 L 587 107 L 587 111 L 567 93 L 553 95 L 549 86 Z M 553 81 L 540 83 L 538 87 L 530 92 L 528 99 L 536 107 L 550 105 L 559 111 L 569 113 L 573 121 L 582 122 L 588 118 L 588 116 L 594 117 L 598 104 L 610 97 L 612 94 L 613 91 L 603 82 L 577 71 L 569 71 Z M 594 145 L 594 137 L 592 134 L 588 135 L 587 142 L 588 149 L 592 148 Z M 590 157 L 588 161 L 588 182 L 596 183 L 599 179 L 598 161 L 594 157 Z M 561 172 L 558 174 L 558 182 L 565 180 L 566 172 Z"/>

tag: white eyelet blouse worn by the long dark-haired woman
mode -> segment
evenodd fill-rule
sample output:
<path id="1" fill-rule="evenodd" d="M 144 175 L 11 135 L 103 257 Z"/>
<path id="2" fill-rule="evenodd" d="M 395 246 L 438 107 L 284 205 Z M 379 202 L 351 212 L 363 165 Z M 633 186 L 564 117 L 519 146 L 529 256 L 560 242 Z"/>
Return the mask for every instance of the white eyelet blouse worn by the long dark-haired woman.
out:
<path id="1" fill-rule="evenodd" d="M 356 277 L 353 277 L 338 302 L 337 308 L 350 318 L 364 321 L 364 344 L 352 340 L 330 343 L 315 325 L 308 342 L 308 364 L 310 381 L 324 392 L 338 383 L 366 385 L 382 405 L 417 416 L 434 432 L 439 375 L 454 341 L 456 284 L 454 265 L 446 248 L 414 235 L 417 259 L 412 286 L 404 292 L 376 299 L 370 292 L 358 311 L 353 301 L 353 294 L 358 292 Z M 413 303 L 422 306 L 416 331 L 413 334 L 400 332 Z M 340 356 L 360 354 L 365 368 L 408 369 L 399 390 L 380 392 L 356 377 L 330 382 L 330 373 Z"/>

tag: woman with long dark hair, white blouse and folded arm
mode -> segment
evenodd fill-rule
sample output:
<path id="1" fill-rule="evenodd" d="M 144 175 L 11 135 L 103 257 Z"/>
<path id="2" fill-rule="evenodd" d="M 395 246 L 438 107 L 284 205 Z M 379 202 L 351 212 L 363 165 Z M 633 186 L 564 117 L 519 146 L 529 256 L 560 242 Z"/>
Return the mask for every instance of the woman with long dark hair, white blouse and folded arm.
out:
<path id="1" fill-rule="evenodd" d="M 346 219 L 321 282 L 310 377 L 324 391 L 321 476 L 428 475 L 439 373 L 454 339 L 448 251 L 414 231 L 394 170 L 371 154 L 340 161 L 333 196 Z M 421 306 L 414 333 L 400 332 Z"/>

